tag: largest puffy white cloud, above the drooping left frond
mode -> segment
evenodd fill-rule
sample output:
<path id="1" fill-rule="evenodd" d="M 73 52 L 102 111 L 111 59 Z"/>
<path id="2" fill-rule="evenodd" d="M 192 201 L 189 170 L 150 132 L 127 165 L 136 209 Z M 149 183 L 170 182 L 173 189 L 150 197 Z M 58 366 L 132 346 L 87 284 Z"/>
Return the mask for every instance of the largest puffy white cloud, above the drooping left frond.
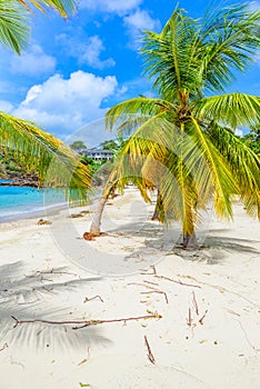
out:
<path id="1" fill-rule="evenodd" d="M 64 79 L 60 74 L 29 89 L 12 114 L 36 121 L 47 131 L 63 138 L 78 128 L 104 116 L 104 100 L 117 92 L 114 76 L 104 78 L 81 70 Z"/>

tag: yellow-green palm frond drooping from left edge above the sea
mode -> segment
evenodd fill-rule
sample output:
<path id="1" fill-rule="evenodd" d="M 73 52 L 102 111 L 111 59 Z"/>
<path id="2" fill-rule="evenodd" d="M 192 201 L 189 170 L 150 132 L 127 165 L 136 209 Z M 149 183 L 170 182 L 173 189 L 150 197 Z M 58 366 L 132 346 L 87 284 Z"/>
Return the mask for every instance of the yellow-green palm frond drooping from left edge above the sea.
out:
<path id="1" fill-rule="evenodd" d="M 37 171 L 40 184 L 66 188 L 71 200 L 86 200 L 90 189 L 88 167 L 79 162 L 67 144 L 33 122 L 0 112 L 0 148 L 12 149 L 27 171 Z"/>

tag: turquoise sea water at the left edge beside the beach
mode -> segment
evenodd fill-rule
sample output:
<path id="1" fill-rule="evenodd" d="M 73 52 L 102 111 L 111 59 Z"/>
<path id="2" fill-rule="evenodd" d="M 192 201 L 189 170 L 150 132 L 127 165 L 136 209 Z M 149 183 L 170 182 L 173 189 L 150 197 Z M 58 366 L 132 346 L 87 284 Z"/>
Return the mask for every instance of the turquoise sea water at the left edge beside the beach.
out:
<path id="1" fill-rule="evenodd" d="M 0 180 L 4 181 L 4 180 Z M 53 196 L 51 196 L 53 194 Z M 46 208 L 64 202 L 63 192 L 38 190 L 31 187 L 0 186 L 0 222 L 44 216 Z"/>

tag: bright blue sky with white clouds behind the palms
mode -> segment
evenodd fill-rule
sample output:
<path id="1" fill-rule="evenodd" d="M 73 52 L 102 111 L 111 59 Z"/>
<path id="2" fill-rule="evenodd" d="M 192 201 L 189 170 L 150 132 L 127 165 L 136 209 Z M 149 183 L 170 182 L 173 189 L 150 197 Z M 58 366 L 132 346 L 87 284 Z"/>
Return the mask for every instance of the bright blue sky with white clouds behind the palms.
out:
<path id="1" fill-rule="evenodd" d="M 181 0 L 179 7 L 199 18 L 211 3 Z M 98 144 L 104 138 L 102 118 L 109 107 L 150 93 L 138 39 L 143 29 L 159 31 L 174 7 L 170 0 L 81 0 L 69 20 L 37 12 L 22 56 L 0 48 L 0 110 L 33 120 L 63 140 L 70 137 L 69 142 Z M 252 7 L 260 2 L 252 1 Z M 229 91 L 259 94 L 259 87 L 257 56 Z"/>

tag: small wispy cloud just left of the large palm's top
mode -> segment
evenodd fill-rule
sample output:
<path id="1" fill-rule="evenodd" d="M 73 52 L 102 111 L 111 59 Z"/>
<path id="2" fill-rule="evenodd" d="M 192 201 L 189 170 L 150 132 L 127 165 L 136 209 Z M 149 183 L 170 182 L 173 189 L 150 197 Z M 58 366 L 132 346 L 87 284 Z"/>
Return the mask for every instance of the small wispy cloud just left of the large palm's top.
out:
<path id="1" fill-rule="evenodd" d="M 126 16 L 123 23 L 132 41 L 137 40 L 143 30 L 157 31 L 161 26 L 158 19 L 152 19 L 148 11 L 141 9 Z"/>

